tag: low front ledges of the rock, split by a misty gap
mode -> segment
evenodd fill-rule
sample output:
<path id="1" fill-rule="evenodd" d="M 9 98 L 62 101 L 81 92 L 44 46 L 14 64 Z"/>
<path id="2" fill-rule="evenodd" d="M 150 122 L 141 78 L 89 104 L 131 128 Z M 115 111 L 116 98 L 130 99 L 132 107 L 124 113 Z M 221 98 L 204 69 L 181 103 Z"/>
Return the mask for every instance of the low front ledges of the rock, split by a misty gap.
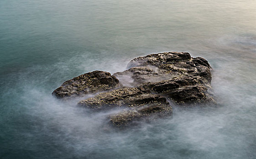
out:
<path id="1" fill-rule="evenodd" d="M 166 98 L 158 94 L 150 94 L 149 90 L 140 87 L 100 93 L 94 98 L 80 101 L 78 105 L 98 110 L 114 107 L 126 108 L 125 111 L 109 117 L 110 123 L 117 127 L 131 124 L 137 119 L 149 116 L 165 116 L 172 113 L 172 107 Z"/>

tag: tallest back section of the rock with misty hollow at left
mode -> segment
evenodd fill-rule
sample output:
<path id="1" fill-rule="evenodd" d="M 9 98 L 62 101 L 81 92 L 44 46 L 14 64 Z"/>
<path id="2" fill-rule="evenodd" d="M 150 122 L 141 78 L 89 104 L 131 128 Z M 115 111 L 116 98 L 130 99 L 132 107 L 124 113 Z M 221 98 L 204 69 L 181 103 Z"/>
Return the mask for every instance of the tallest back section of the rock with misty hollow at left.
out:
<path id="1" fill-rule="evenodd" d="M 210 65 L 203 58 L 191 58 L 188 52 L 165 52 L 138 57 L 128 64 L 129 70 L 115 73 L 121 84 L 136 86 L 174 77 L 200 76 L 210 83 Z"/>

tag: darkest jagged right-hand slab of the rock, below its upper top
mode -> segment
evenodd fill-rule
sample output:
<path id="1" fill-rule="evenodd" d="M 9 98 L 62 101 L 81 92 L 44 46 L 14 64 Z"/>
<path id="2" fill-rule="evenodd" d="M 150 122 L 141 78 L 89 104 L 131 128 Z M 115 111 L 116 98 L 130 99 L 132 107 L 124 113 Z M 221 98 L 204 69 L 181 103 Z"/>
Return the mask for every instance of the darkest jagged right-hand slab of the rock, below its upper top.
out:
<path id="1" fill-rule="evenodd" d="M 155 83 L 143 84 L 142 87 L 150 89 L 154 93 L 165 96 L 177 104 L 192 104 L 214 102 L 208 93 L 209 85 L 201 83 L 200 78 L 182 77 L 172 80 L 163 80 Z"/>

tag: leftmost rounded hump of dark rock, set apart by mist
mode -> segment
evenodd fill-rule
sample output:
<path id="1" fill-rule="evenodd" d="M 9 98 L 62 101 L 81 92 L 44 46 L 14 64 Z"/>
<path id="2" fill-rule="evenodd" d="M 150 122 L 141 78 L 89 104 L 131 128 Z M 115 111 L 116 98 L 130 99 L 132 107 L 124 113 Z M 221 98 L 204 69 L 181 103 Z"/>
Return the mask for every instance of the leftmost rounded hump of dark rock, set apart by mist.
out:
<path id="1" fill-rule="evenodd" d="M 93 71 L 67 80 L 52 92 L 57 98 L 79 96 L 110 90 L 118 85 L 119 80 L 105 71 Z"/>

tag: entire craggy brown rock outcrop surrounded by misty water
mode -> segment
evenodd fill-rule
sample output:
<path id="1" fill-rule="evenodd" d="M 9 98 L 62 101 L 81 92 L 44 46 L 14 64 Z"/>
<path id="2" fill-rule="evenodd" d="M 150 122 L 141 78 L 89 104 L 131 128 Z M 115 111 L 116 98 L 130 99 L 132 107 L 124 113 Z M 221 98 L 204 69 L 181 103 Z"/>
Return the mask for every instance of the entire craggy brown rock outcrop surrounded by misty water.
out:
<path id="1" fill-rule="evenodd" d="M 193 58 L 188 52 L 152 54 L 131 60 L 128 70 L 114 75 L 104 71 L 80 75 L 52 94 L 63 98 L 104 91 L 78 105 L 95 110 L 123 108 L 109 116 L 111 124 L 121 127 L 170 115 L 172 107 L 167 99 L 186 106 L 214 102 L 209 94 L 210 69 L 207 60 Z"/>

